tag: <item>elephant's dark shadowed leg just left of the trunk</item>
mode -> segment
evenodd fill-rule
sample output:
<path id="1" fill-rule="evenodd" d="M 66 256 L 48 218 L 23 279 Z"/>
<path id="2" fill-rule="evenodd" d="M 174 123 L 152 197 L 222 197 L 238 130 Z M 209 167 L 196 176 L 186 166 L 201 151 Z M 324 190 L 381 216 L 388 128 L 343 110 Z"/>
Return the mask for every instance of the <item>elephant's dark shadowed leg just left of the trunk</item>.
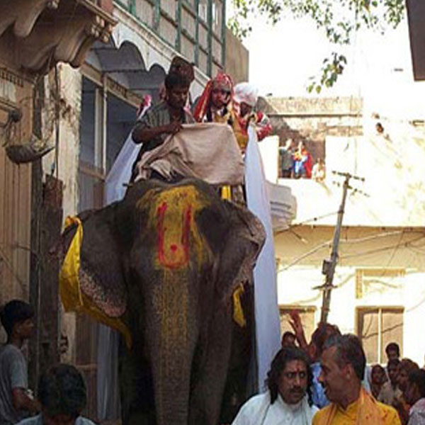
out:
<path id="1" fill-rule="evenodd" d="M 155 425 L 152 375 L 149 365 L 120 344 L 121 416 L 123 425 Z"/>

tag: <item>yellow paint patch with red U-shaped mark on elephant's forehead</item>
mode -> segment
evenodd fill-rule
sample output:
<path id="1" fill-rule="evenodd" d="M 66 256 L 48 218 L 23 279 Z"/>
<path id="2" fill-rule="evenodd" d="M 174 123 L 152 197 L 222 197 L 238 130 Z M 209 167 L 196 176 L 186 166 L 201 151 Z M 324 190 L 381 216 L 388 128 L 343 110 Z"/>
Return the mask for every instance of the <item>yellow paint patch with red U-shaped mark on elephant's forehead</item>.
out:
<path id="1" fill-rule="evenodd" d="M 205 259 L 205 243 L 195 222 L 196 213 L 209 200 L 195 186 L 166 190 L 154 188 L 137 202 L 137 208 L 148 208 L 148 228 L 157 234 L 155 264 L 158 268 L 188 268 L 191 256 L 198 264 Z"/>

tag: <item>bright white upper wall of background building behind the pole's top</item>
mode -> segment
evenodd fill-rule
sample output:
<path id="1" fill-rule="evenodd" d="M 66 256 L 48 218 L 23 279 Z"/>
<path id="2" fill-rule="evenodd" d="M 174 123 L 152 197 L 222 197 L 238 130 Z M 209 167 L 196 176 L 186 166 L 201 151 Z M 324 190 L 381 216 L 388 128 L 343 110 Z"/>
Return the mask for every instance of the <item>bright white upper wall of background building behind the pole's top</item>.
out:
<path id="1" fill-rule="evenodd" d="M 310 121 L 305 122 L 305 131 Z M 329 120 L 329 118 L 327 118 Z M 333 214 L 341 203 L 343 176 L 351 179 L 344 225 L 406 226 L 425 225 L 425 183 L 418 164 L 425 161 L 425 129 L 407 121 L 385 123 L 385 132 L 375 130 L 374 120 L 361 120 L 360 136 L 326 135 L 324 161 L 326 179 L 279 179 L 296 200 L 293 224 L 314 220 L 320 225 L 334 225 Z M 304 127 L 302 127 L 304 128 Z M 328 128 L 329 129 L 329 128 Z M 276 164 L 268 154 L 268 162 Z M 274 181 L 273 181 L 274 182 Z"/>

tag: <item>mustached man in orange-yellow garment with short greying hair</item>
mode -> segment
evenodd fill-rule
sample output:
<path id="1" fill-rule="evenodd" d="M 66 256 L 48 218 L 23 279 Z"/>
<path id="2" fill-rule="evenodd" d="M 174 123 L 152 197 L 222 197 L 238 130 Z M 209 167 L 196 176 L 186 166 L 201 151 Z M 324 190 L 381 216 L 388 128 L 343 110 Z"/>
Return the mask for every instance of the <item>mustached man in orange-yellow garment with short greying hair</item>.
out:
<path id="1" fill-rule="evenodd" d="M 366 358 L 357 336 L 331 336 L 320 363 L 319 382 L 331 404 L 317 412 L 313 425 L 400 425 L 395 409 L 377 402 L 361 386 Z"/>

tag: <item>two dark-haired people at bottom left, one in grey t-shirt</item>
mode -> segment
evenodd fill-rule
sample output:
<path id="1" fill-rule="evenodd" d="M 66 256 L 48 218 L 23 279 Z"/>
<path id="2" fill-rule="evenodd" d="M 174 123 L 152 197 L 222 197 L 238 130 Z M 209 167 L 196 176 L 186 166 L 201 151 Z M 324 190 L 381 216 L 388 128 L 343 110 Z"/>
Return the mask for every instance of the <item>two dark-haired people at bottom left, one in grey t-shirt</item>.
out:
<path id="1" fill-rule="evenodd" d="M 28 302 L 12 300 L 1 309 L 6 344 L 0 347 L 1 425 L 94 425 L 81 415 L 87 401 L 86 384 L 72 365 L 57 364 L 38 380 L 37 397 L 28 387 L 22 348 L 34 327 Z"/>

